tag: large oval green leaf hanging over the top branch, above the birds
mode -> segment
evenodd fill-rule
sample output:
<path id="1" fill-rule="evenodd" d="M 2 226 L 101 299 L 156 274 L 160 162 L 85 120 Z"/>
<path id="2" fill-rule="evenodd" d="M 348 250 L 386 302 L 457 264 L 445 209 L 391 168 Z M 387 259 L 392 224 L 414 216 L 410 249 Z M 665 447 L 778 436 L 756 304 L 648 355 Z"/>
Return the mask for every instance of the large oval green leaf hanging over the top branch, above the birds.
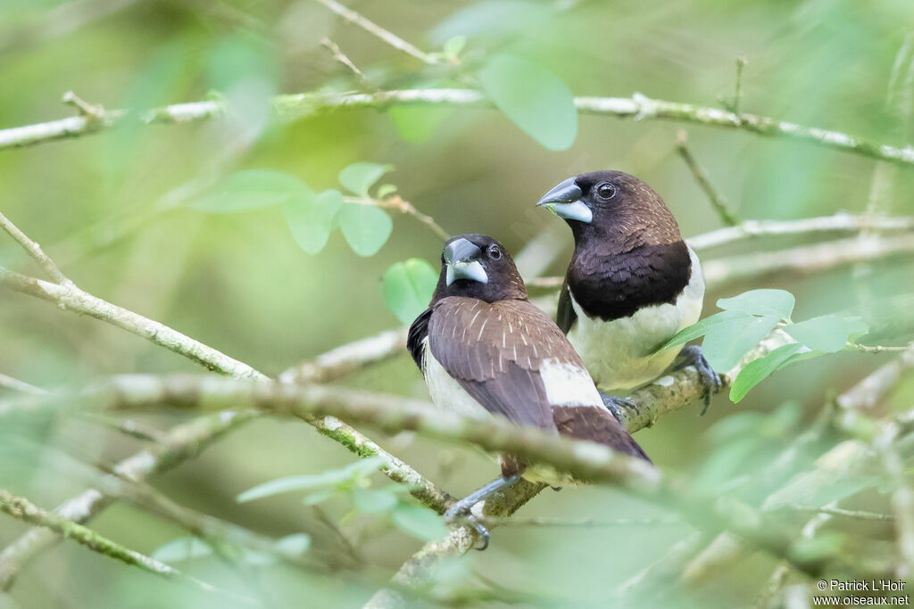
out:
<path id="1" fill-rule="evenodd" d="M 562 79 L 509 55 L 494 57 L 477 75 L 499 110 L 548 150 L 567 150 L 578 135 L 578 109 Z"/>

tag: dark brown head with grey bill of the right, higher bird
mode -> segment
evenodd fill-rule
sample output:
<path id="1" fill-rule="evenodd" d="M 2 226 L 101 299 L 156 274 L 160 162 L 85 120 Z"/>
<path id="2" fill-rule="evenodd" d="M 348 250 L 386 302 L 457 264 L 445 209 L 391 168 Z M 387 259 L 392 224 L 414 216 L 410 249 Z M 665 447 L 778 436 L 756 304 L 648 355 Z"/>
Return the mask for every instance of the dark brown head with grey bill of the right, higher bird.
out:
<path id="1" fill-rule="evenodd" d="M 563 218 L 575 242 L 593 238 L 614 242 L 619 251 L 681 241 L 679 226 L 664 200 L 641 180 L 622 172 L 591 172 L 570 177 L 537 205 Z"/>

